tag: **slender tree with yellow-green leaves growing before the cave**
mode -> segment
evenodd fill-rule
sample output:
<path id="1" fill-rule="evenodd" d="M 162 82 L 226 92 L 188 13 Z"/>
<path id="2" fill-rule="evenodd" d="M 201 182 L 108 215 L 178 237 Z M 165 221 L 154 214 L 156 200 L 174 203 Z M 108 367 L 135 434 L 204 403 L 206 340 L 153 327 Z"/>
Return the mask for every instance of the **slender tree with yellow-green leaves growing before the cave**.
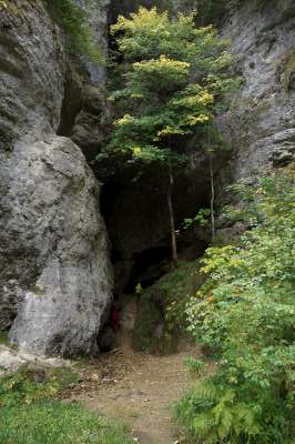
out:
<path id="1" fill-rule="evenodd" d="M 175 263 L 175 165 L 189 159 L 189 138 L 197 134 L 201 149 L 217 103 L 233 85 L 228 41 L 220 39 L 213 27 L 196 29 L 194 19 L 194 13 L 171 19 L 156 8 L 140 8 L 130 18 L 119 17 L 111 29 L 121 60 L 110 97 L 116 120 L 104 155 L 121 154 L 140 168 L 156 163 L 165 172 Z"/>

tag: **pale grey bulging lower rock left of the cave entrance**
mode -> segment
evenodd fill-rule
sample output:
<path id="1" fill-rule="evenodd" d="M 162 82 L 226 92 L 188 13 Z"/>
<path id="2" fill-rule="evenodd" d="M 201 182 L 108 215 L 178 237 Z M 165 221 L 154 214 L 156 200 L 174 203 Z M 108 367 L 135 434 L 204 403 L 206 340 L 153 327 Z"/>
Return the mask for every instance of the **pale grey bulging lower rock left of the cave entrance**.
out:
<path id="1" fill-rule="evenodd" d="M 69 139 L 16 148 L 13 157 L 3 202 L 13 209 L 2 219 L 2 241 L 9 259 L 16 250 L 19 261 L 27 258 L 34 280 L 27 281 L 10 339 L 44 354 L 93 353 L 111 289 L 98 183 Z M 22 283 L 24 263 L 14 264 Z"/>

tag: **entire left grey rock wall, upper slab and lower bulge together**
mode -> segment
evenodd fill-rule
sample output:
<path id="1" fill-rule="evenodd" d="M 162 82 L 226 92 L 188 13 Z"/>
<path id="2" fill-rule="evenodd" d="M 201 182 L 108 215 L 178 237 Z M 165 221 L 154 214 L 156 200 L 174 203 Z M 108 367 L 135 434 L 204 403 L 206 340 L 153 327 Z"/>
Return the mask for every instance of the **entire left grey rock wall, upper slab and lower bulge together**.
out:
<path id="1" fill-rule="evenodd" d="M 93 353 L 111 300 L 100 185 L 55 135 L 59 29 L 41 1 L 0 6 L 0 329 L 35 353 Z"/>

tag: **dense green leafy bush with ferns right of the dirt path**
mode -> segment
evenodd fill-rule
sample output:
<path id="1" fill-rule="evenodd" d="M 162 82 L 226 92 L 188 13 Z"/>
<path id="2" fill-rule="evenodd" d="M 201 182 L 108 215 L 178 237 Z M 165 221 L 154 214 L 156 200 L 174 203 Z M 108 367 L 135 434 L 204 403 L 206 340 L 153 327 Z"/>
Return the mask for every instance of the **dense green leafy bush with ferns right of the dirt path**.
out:
<path id="1" fill-rule="evenodd" d="M 220 366 L 176 407 L 193 443 L 294 442 L 294 184 L 289 167 L 255 189 L 235 186 L 253 229 L 204 259 L 208 279 L 190 302 L 190 331 Z"/>

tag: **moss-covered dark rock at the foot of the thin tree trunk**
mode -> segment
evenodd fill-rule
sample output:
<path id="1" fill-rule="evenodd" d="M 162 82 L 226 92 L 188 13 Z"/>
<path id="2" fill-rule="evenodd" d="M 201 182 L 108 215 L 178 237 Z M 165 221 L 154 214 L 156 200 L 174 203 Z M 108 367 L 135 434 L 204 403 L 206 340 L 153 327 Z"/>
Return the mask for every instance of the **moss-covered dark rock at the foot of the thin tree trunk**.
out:
<path id="1" fill-rule="evenodd" d="M 133 347 L 155 354 L 177 351 L 186 334 L 185 305 L 203 283 L 197 261 L 182 262 L 145 290 L 139 302 L 133 331 Z"/>

